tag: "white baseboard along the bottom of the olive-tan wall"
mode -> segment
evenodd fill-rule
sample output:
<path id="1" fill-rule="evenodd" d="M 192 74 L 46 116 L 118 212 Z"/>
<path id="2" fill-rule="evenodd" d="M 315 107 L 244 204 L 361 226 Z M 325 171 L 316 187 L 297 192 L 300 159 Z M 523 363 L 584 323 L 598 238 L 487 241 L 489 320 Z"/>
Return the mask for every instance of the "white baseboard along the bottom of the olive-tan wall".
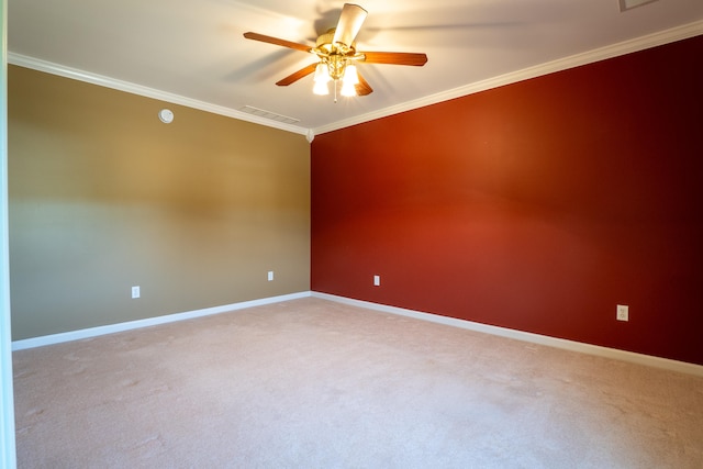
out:
<path id="1" fill-rule="evenodd" d="M 60 344 L 63 342 L 78 340 L 81 338 L 97 337 L 115 332 L 131 331 L 140 327 L 155 326 L 158 324 L 167 324 L 176 321 L 191 320 L 194 317 L 209 316 L 211 314 L 226 313 L 230 311 L 243 310 L 245 308 L 261 306 L 264 304 L 280 303 L 281 301 L 297 300 L 299 298 L 308 298 L 310 291 L 300 293 L 282 294 L 280 297 L 263 298 L 260 300 L 243 301 L 241 303 L 226 304 L 224 306 L 205 308 L 202 310 L 188 311 L 185 313 L 167 314 L 164 316 L 148 317 L 145 320 L 129 321 L 125 323 L 110 324 L 105 326 L 90 327 L 79 331 L 65 332 L 60 334 L 45 335 L 42 337 L 25 338 L 14 340 L 12 350 L 23 350 L 25 348 L 42 347 L 44 345 Z"/>

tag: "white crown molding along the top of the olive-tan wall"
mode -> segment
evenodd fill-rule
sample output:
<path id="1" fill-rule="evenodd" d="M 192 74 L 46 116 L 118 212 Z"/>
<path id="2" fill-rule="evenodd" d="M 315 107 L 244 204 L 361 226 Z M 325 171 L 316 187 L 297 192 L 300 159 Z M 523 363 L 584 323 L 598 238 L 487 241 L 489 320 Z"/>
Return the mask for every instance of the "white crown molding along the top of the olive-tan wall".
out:
<path id="1" fill-rule="evenodd" d="M 9 53 L 8 64 L 16 65 L 24 68 L 31 68 L 33 70 L 44 71 L 46 74 L 57 75 L 65 78 L 71 78 L 74 80 L 85 81 L 92 85 L 98 85 L 105 88 L 112 88 L 119 91 L 125 91 L 132 94 L 138 94 L 146 98 L 157 99 L 159 101 L 166 101 L 174 104 L 181 104 L 192 109 L 199 109 L 205 112 L 212 112 L 213 114 L 225 115 L 227 118 L 238 119 L 241 121 L 247 121 L 255 124 L 266 125 L 268 127 L 279 129 L 281 131 L 293 132 L 301 135 L 308 134 L 308 129 L 303 129 L 297 125 L 290 125 L 282 122 L 271 121 L 269 119 L 259 118 L 254 114 L 237 111 L 235 109 L 225 108 L 222 105 L 212 104 L 204 101 L 199 101 L 191 98 L 186 98 L 179 94 L 160 91 L 154 88 L 135 85 L 129 81 L 116 80 L 114 78 L 105 77 L 98 74 L 91 74 L 88 71 L 79 70 L 77 68 L 66 67 L 64 65 L 54 64 L 52 62 L 42 60 L 34 57 L 27 57 L 25 55 Z"/>

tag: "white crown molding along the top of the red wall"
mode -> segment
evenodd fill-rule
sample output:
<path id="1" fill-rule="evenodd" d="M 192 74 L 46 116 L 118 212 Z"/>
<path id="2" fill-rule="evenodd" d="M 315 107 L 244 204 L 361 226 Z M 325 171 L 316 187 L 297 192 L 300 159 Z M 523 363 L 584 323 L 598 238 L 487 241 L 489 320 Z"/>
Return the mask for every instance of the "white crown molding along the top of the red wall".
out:
<path id="1" fill-rule="evenodd" d="M 352 125 L 361 124 L 364 122 L 387 118 L 389 115 L 399 114 L 401 112 L 412 111 L 414 109 L 424 108 L 426 105 L 436 104 L 436 103 L 448 101 L 456 98 L 461 98 L 468 94 L 473 94 L 473 93 L 486 91 L 492 88 L 516 83 L 518 81 L 536 78 L 543 75 L 554 74 L 556 71 L 561 71 L 569 68 L 574 68 L 582 65 L 605 60 L 607 58 L 631 54 L 637 51 L 644 51 L 646 48 L 656 47 L 656 46 L 672 43 L 676 41 L 694 37 L 701 34 L 703 34 L 703 21 L 696 21 L 694 23 L 689 23 L 682 26 L 672 27 L 670 30 L 660 31 L 654 34 L 648 34 L 646 36 L 637 37 L 635 40 L 624 41 L 622 43 L 612 44 L 605 47 L 577 54 L 570 57 L 565 57 L 565 58 L 560 58 L 546 64 L 525 68 L 522 70 L 512 71 L 510 74 L 489 78 L 482 81 L 476 81 L 473 83 L 465 85 L 459 88 L 443 91 L 436 94 L 431 94 L 424 98 L 420 98 L 413 101 L 408 101 L 390 108 L 384 108 L 379 111 L 370 112 L 364 115 L 357 115 L 350 119 L 337 121 L 332 124 L 323 125 L 321 127 L 314 129 L 314 134 L 321 135 L 326 132 L 332 132 L 332 131 L 348 127 Z"/>

